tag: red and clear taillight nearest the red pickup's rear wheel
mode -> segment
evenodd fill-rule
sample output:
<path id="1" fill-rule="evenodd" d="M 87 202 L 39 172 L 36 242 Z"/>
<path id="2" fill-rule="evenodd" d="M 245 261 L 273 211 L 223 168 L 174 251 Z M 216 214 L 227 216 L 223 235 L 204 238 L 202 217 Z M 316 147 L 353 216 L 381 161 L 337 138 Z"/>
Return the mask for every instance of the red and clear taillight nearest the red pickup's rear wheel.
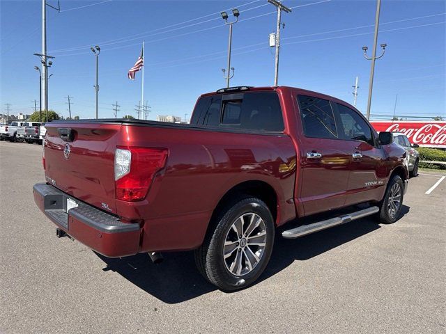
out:
<path id="1" fill-rule="evenodd" d="M 153 177 L 166 165 L 167 154 L 164 148 L 116 148 L 116 199 L 128 202 L 144 200 Z"/>

